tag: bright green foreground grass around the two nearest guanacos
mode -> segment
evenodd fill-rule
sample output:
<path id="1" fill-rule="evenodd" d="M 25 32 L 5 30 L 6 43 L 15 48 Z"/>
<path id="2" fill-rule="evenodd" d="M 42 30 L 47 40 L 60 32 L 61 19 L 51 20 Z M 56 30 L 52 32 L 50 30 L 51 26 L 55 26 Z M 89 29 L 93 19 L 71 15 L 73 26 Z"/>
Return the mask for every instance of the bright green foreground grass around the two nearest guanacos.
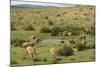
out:
<path id="1" fill-rule="evenodd" d="M 11 49 L 11 59 L 15 60 L 17 64 L 22 65 L 22 64 L 52 64 L 52 58 L 50 55 L 50 48 L 52 46 L 46 46 L 46 47 L 40 47 L 37 49 L 37 58 L 40 61 L 35 61 L 32 62 L 28 57 L 26 59 L 24 56 L 24 52 L 22 48 L 19 47 L 13 47 Z M 53 46 L 54 47 L 54 46 Z M 58 46 L 55 46 L 58 48 Z M 59 46 L 60 47 L 60 46 Z M 47 61 L 43 61 L 43 58 L 47 58 Z M 95 50 L 94 49 L 87 49 L 84 51 L 76 51 L 74 52 L 74 55 L 64 57 L 64 56 L 57 56 L 58 59 L 61 59 L 58 61 L 58 63 L 70 63 L 70 62 L 90 62 L 90 61 L 95 61 Z"/>

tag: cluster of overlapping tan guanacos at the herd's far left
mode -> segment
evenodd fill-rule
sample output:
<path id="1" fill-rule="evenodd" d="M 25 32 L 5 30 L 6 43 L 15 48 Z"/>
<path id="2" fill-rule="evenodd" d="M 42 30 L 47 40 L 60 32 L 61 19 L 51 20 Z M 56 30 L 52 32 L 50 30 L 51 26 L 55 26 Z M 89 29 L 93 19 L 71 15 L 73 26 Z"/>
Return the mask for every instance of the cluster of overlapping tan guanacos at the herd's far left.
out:
<path id="1" fill-rule="evenodd" d="M 31 58 L 35 59 L 36 56 L 36 46 L 41 42 L 41 39 L 36 38 L 34 35 L 30 37 L 30 41 L 24 42 L 22 47 L 26 54 L 28 54 Z M 32 47 L 33 46 L 33 47 Z"/>

